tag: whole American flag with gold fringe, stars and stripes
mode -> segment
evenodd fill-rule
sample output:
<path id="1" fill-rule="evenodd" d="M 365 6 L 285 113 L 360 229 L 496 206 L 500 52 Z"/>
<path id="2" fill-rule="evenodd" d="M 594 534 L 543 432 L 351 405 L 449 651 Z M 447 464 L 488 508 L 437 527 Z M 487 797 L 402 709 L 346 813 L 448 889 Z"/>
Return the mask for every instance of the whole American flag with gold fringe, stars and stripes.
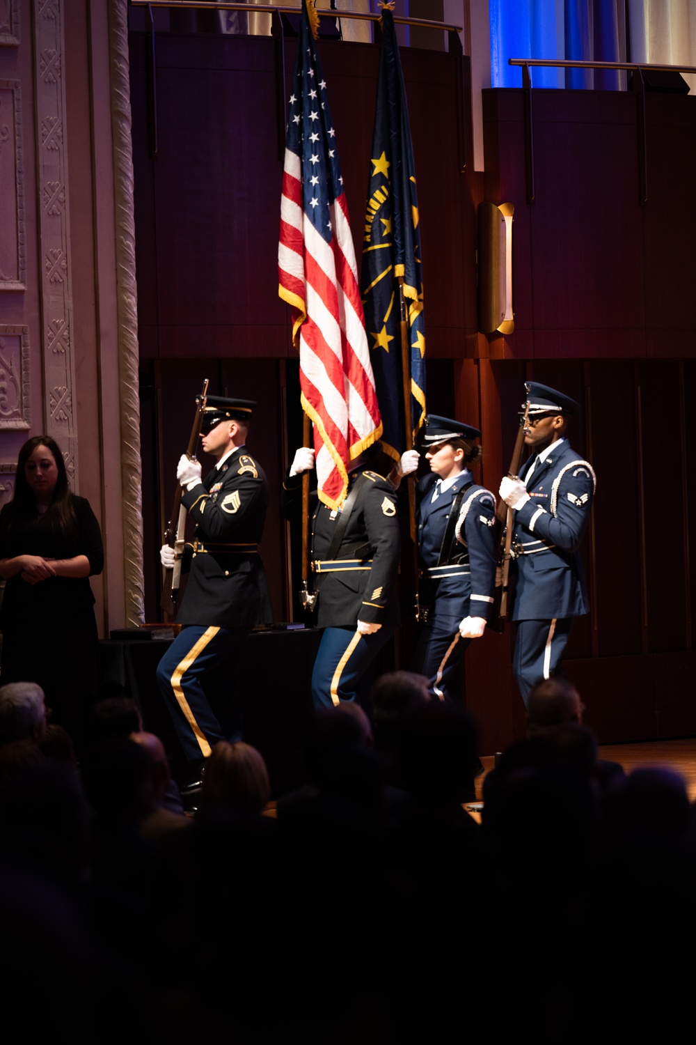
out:
<path id="1" fill-rule="evenodd" d="M 314 13 L 313 17 L 316 18 Z M 296 309 L 302 405 L 314 422 L 319 498 L 338 508 L 347 465 L 380 438 L 347 205 L 307 5 L 285 143 L 279 294 Z"/>

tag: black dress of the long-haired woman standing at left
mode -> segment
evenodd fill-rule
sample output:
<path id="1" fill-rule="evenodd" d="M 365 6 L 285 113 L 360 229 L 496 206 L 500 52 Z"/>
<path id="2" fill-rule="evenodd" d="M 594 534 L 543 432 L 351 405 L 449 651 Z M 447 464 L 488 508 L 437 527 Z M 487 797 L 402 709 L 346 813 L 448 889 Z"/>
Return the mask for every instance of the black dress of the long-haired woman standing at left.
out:
<path id="1" fill-rule="evenodd" d="M 99 524 L 85 497 L 71 494 L 76 529 L 66 534 L 49 511 L 11 525 L 11 505 L 0 512 L 0 558 L 40 555 L 71 559 L 86 555 L 90 575 L 100 574 L 104 555 Z M 5 582 L 0 607 L 0 684 L 38 682 L 53 710 L 51 721 L 75 736 L 85 706 L 97 696 L 97 626 L 87 577 L 49 577 L 28 584 L 20 574 Z"/>

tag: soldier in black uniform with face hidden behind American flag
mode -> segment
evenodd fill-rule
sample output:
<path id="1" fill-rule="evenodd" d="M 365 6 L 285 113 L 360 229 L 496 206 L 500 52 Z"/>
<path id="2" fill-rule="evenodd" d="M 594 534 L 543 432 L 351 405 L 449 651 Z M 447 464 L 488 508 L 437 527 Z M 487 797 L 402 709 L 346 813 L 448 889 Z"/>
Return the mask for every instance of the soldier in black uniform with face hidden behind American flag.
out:
<path id="1" fill-rule="evenodd" d="M 369 467 L 378 455 L 379 446 L 370 447 L 351 472 L 339 510 L 317 501 L 312 512 L 317 623 L 325 629 L 312 672 L 315 707 L 355 700 L 361 677 L 399 624 L 397 494 Z M 302 473 L 313 467 L 314 451 L 301 447 L 283 483 L 286 517 L 301 501 Z"/>

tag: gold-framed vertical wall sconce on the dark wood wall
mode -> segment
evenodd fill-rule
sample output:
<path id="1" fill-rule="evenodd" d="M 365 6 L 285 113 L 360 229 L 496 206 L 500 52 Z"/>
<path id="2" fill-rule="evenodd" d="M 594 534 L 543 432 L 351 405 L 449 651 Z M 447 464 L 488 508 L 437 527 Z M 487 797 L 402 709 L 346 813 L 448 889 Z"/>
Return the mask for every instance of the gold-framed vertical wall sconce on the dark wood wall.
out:
<path id="1" fill-rule="evenodd" d="M 514 205 L 480 203 L 478 276 L 479 331 L 512 333 L 512 215 Z"/>

